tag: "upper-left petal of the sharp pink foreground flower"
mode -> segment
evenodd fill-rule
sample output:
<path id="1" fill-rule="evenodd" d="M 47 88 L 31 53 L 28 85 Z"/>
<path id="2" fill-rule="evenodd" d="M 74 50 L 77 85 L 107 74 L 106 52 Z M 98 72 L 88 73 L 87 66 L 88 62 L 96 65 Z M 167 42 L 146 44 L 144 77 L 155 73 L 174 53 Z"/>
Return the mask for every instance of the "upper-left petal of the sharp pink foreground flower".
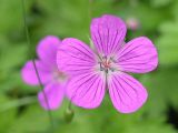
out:
<path id="1" fill-rule="evenodd" d="M 68 38 L 58 49 L 57 64 L 67 74 L 85 73 L 93 69 L 95 53 L 80 40 Z"/>

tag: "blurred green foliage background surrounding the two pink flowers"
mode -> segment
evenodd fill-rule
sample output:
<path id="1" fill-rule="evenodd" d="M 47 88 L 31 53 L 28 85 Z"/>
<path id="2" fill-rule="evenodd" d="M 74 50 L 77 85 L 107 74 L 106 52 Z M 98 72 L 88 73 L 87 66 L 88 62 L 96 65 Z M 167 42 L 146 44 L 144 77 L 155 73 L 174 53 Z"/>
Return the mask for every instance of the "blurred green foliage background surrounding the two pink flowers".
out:
<path id="1" fill-rule="evenodd" d="M 147 35 L 159 52 L 158 69 L 136 75 L 149 92 L 138 112 L 120 114 L 106 96 L 95 110 L 73 106 L 73 121 L 67 123 L 65 100 L 51 112 L 55 133 L 178 133 L 178 0 L 27 0 L 26 9 L 33 57 L 38 41 L 48 34 L 89 42 L 91 17 L 103 13 L 137 20 L 139 27 L 128 30 L 126 40 Z M 21 0 L 0 0 L 0 133 L 52 133 L 36 98 L 39 88 L 20 76 L 30 59 Z"/>

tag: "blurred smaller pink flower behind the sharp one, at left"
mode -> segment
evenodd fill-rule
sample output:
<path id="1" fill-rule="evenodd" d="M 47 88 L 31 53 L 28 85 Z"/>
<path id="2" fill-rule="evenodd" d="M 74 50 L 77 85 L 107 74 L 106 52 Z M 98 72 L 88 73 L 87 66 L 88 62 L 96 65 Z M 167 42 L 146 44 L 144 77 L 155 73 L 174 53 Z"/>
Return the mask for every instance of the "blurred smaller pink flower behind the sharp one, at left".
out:
<path id="1" fill-rule="evenodd" d="M 65 85 L 67 82 L 66 74 L 58 70 L 56 63 L 56 55 L 58 47 L 61 44 L 57 37 L 46 37 L 40 41 L 37 48 L 39 59 L 36 60 L 36 65 L 44 85 L 44 93 L 49 103 L 46 102 L 42 92 L 38 94 L 39 102 L 46 110 L 56 110 L 60 106 L 63 95 Z M 34 71 L 32 61 L 28 61 L 21 71 L 22 79 L 30 85 L 39 85 L 39 81 Z"/>

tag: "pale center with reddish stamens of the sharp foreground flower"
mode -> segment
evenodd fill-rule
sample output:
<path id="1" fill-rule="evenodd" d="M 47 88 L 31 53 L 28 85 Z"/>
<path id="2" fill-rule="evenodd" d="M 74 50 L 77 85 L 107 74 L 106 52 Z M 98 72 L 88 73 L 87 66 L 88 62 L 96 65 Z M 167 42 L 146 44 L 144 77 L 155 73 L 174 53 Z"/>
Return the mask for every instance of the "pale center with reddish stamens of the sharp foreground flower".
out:
<path id="1" fill-rule="evenodd" d="M 100 71 L 105 71 L 108 73 L 109 71 L 113 72 L 115 69 L 115 60 L 113 58 L 102 57 L 99 62 Z"/>

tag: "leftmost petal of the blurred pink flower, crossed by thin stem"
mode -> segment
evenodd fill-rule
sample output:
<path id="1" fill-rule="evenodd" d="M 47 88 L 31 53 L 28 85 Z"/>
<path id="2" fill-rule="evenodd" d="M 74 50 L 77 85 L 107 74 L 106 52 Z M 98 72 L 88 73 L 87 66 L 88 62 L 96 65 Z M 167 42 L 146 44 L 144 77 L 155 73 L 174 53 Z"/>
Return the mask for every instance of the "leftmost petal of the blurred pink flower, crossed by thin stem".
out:
<path id="1" fill-rule="evenodd" d="M 41 79 L 42 84 L 48 83 L 51 80 L 50 71 L 41 61 L 36 61 L 36 65 Z M 39 81 L 32 61 L 28 61 L 21 70 L 21 76 L 23 81 L 30 85 L 38 85 Z"/>

